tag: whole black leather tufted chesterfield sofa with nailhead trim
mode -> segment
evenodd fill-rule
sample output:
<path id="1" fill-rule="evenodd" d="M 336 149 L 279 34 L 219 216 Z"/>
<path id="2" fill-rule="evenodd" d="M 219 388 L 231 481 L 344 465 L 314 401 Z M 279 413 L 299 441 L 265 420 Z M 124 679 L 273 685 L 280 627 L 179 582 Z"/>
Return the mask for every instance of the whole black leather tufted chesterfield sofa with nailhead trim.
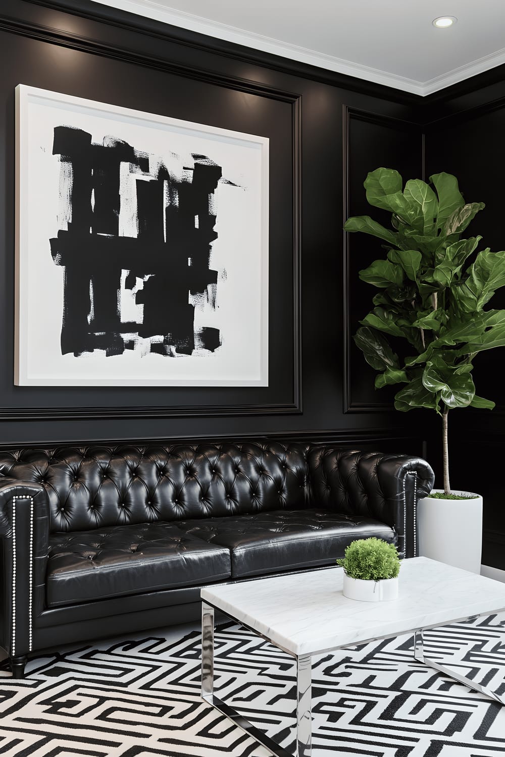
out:
<path id="1" fill-rule="evenodd" d="M 422 459 L 261 440 L 0 453 L 0 646 L 194 619 L 200 588 L 332 565 L 356 538 L 416 554 Z"/>

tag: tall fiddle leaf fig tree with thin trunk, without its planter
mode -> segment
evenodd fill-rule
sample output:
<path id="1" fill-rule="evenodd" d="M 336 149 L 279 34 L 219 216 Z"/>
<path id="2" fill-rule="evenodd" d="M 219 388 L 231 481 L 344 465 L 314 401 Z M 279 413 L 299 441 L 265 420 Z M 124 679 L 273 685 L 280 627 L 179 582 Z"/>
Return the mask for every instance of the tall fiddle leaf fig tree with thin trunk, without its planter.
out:
<path id="1" fill-rule="evenodd" d="M 450 494 L 449 410 L 494 407 L 475 394 L 472 369 L 479 352 L 505 345 L 505 310 L 486 307 L 505 285 L 505 251 L 477 251 L 482 237 L 462 238 L 485 206 L 466 203 L 449 173 L 403 186 L 397 171 L 378 168 L 364 186 L 369 204 L 391 213 L 392 228 L 369 216 L 345 223 L 348 232 L 381 239 L 385 250 L 385 257 L 360 271 L 360 279 L 378 292 L 354 341 L 379 372 L 376 388 L 401 385 L 397 410 L 429 407 L 441 415 L 444 493 Z M 398 357 L 391 337 L 406 341 L 408 357 Z"/>

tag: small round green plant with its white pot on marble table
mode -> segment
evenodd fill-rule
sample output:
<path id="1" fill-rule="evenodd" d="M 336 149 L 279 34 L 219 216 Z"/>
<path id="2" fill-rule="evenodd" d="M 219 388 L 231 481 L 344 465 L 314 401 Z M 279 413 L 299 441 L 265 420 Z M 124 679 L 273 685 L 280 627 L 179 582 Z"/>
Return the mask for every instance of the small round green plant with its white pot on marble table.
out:
<path id="1" fill-rule="evenodd" d="M 357 539 L 337 565 L 344 569 L 344 597 L 361 602 L 397 599 L 401 562 L 394 544 L 374 536 Z"/>

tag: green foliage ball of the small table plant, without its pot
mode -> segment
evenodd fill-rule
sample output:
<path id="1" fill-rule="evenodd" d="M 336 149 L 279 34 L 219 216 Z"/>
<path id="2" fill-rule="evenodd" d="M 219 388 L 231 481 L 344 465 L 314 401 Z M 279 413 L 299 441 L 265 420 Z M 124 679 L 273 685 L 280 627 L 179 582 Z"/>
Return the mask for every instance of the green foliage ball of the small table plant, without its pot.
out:
<path id="1" fill-rule="evenodd" d="M 400 571 L 397 548 L 374 536 L 352 541 L 346 547 L 344 557 L 337 560 L 337 565 L 341 565 L 350 578 L 362 581 L 396 578 Z"/>

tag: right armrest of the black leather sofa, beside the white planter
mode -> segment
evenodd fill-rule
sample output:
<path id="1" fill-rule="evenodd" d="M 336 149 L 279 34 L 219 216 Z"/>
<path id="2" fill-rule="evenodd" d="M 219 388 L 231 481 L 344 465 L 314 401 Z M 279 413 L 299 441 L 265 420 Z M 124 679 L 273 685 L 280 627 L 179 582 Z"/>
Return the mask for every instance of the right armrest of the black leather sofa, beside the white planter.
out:
<path id="1" fill-rule="evenodd" d="M 316 447 L 308 463 L 314 506 L 386 523 L 397 533 L 401 556 L 416 556 L 417 502 L 432 491 L 435 482 L 425 460 Z"/>

